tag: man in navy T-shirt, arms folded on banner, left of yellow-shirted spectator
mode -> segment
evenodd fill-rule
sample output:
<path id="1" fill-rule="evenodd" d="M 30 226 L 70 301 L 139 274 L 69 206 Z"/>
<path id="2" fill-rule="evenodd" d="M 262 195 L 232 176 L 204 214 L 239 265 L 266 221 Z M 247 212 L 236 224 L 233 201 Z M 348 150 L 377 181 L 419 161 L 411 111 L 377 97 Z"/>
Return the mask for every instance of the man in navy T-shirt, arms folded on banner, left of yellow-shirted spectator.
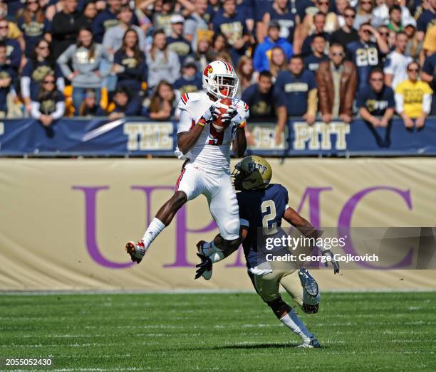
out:
<path id="1" fill-rule="evenodd" d="M 369 86 L 358 96 L 360 116 L 373 127 L 388 127 L 395 112 L 394 92 L 384 79 L 383 70 L 375 68 L 370 72 Z"/>

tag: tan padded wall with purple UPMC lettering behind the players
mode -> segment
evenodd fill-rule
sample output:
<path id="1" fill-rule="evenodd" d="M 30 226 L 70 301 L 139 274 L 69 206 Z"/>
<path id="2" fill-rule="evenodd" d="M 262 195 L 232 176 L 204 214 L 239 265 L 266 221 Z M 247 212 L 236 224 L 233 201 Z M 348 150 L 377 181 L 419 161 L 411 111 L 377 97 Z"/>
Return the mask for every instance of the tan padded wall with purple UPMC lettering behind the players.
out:
<path id="1" fill-rule="evenodd" d="M 435 226 L 436 159 L 270 159 L 273 181 L 315 225 Z M 251 289 L 239 252 L 194 280 L 195 243 L 217 232 L 206 199 L 177 214 L 140 265 L 142 237 L 172 194 L 177 159 L 0 159 L 0 290 Z M 358 196 L 358 198 L 356 198 Z M 341 221 L 343 223 L 343 220 Z M 313 270 L 321 289 L 435 289 L 436 270 Z"/>

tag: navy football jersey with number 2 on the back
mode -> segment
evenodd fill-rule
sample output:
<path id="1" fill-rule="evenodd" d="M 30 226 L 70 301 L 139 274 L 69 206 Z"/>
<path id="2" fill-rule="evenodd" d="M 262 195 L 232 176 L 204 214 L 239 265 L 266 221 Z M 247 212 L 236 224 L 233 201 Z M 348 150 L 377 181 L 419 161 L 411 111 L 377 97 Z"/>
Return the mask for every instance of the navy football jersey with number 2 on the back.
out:
<path id="1" fill-rule="evenodd" d="M 256 267 L 263 261 L 264 251 L 259 238 L 281 235 L 281 219 L 288 207 L 288 191 L 284 186 L 271 184 L 266 188 L 237 193 L 241 225 L 248 226 L 248 235 L 242 247 L 247 267 Z M 259 249 L 260 248 L 260 249 Z"/>

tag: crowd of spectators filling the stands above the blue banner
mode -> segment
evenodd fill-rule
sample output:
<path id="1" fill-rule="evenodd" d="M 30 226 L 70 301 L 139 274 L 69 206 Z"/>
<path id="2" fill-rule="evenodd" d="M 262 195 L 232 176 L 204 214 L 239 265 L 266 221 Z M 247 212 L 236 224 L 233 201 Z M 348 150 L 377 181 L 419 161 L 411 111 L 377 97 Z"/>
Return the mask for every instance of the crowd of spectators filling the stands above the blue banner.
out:
<path id="1" fill-rule="evenodd" d="M 215 59 L 278 141 L 294 116 L 420 128 L 436 115 L 436 0 L 0 2 L 2 117 L 167 120 Z"/>

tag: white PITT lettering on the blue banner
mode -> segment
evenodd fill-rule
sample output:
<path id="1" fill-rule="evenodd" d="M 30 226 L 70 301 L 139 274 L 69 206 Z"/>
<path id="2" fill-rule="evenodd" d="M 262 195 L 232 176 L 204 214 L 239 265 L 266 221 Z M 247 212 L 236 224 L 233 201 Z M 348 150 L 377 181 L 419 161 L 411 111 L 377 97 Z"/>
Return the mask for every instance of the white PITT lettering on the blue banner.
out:
<path id="1" fill-rule="evenodd" d="M 306 122 L 294 122 L 294 150 L 346 150 L 346 135 L 350 133 L 350 124 L 331 122 L 326 124 L 316 122 L 308 125 Z"/>

